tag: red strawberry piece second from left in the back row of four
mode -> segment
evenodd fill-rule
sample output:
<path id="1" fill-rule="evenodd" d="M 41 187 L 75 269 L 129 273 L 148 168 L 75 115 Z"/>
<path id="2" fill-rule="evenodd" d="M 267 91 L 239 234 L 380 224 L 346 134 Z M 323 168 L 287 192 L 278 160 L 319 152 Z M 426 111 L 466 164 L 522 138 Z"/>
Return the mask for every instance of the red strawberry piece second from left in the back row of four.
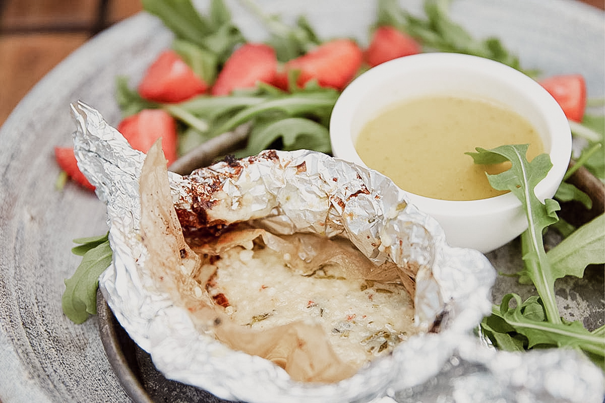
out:
<path id="1" fill-rule="evenodd" d="M 275 50 L 265 44 L 244 44 L 234 51 L 218 73 L 212 95 L 229 95 L 239 88 L 253 88 L 257 82 L 273 83 L 277 71 Z"/>

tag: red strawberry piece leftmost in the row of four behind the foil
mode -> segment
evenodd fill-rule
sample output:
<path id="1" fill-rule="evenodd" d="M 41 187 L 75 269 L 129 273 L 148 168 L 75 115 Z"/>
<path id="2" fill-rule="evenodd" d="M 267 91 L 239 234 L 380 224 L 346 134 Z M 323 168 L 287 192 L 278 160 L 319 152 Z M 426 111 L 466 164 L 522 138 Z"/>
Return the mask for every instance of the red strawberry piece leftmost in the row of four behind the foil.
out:
<path id="1" fill-rule="evenodd" d="M 181 102 L 203 94 L 208 85 L 174 50 L 163 51 L 139 83 L 141 97 L 155 102 Z"/>

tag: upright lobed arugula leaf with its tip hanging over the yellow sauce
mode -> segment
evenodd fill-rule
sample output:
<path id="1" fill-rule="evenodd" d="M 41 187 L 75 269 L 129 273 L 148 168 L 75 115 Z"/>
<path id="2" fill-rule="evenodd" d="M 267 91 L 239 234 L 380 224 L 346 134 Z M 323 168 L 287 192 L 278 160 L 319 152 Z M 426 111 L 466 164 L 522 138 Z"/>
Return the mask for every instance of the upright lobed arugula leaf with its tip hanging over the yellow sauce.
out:
<path id="1" fill-rule="evenodd" d="M 528 219 L 528 230 L 523 233 L 522 246 L 527 276 L 534 283 L 538 295 L 546 309 L 546 317 L 552 323 L 561 323 L 561 318 L 555 300 L 555 275 L 544 250 L 542 233 L 549 225 L 558 221 L 556 210 L 559 205 L 553 199 L 546 199 L 545 204 L 535 196 L 534 187 L 552 167 L 550 157 L 540 154 L 531 161 L 526 159 L 528 144 L 500 146 L 492 150 L 477 148 L 477 153 L 471 155 L 476 164 L 492 164 L 501 162 L 503 158 L 511 161 L 512 166 L 497 175 L 488 175 L 489 184 L 496 190 L 510 190 L 522 202 Z"/>

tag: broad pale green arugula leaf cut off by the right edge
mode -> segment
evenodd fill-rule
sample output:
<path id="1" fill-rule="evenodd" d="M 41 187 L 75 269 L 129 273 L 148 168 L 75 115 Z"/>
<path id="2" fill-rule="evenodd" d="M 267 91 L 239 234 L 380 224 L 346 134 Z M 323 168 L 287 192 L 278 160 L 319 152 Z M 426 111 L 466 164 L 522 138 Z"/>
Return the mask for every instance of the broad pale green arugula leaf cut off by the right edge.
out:
<path id="1" fill-rule="evenodd" d="M 605 263 L 605 216 L 582 225 L 546 253 L 555 279 L 567 274 L 582 277 L 590 264 Z"/>

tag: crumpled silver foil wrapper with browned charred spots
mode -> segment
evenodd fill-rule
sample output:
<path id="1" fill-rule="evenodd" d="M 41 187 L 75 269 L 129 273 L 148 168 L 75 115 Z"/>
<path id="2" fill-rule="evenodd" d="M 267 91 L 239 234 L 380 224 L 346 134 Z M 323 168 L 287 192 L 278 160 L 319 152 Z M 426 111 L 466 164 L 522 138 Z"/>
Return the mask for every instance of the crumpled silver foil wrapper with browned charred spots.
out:
<path id="1" fill-rule="evenodd" d="M 142 266 L 138 178 L 145 155 L 96 110 L 74 103 L 72 112 L 79 167 L 107 205 L 113 264 L 100 289 L 166 378 L 223 399 L 263 403 L 602 401 L 601 371 L 574 352 L 500 352 L 473 335 L 491 310 L 495 280 L 483 254 L 448 246 L 439 224 L 380 173 L 309 150 L 263 152 L 239 172 L 228 163 L 190 176 L 169 172 L 175 207 L 195 209 L 187 192 L 194 181 L 217 197 L 209 218 L 253 221 L 277 234 L 340 234 L 376 263 L 418 263 L 420 334 L 335 384 L 295 382 L 270 361 L 200 334 Z"/>

